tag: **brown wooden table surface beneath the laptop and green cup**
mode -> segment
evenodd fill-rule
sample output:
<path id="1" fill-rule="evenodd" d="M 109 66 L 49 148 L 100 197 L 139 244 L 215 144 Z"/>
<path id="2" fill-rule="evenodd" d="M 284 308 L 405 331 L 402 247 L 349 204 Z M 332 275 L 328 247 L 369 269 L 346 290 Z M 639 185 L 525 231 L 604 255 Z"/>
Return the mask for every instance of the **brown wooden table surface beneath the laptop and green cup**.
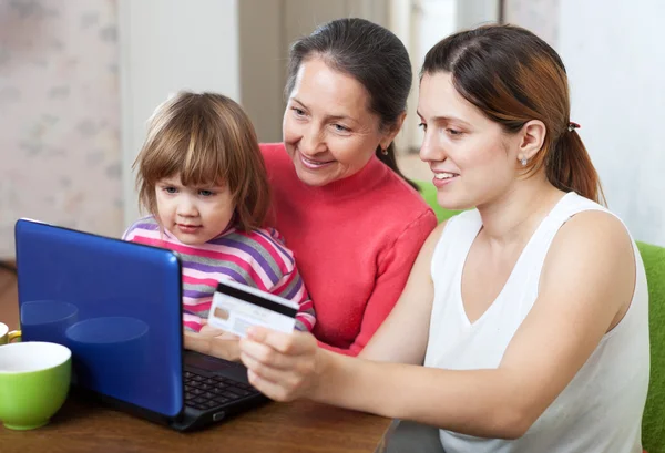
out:
<path id="1" fill-rule="evenodd" d="M 0 277 L 0 321 L 14 329 L 16 284 L 7 274 Z M 0 452 L 369 453 L 380 450 L 389 424 L 385 418 L 298 401 L 269 403 L 202 431 L 178 433 L 75 395 L 43 428 L 0 426 Z"/>

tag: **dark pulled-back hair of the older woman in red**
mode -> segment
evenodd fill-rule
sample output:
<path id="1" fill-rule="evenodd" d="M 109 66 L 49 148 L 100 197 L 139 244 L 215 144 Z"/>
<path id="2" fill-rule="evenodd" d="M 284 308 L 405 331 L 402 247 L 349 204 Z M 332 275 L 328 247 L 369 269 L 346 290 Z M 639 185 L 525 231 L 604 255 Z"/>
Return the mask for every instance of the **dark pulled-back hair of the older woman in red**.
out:
<path id="1" fill-rule="evenodd" d="M 405 44 L 390 30 L 365 19 L 336 19 L 293 43 L 289 52 L 285 95 L 288 99 L 304 61 L 321 56 L 334 70 L 356 79 L 369 94 L 369 111 L 381 127 L 397 124 L 407 110 L 411 91 L 411 62 Z M 377 146 L 376 155 L 411 187 L 420 189 L 397 166 L 395 144 Z"/>

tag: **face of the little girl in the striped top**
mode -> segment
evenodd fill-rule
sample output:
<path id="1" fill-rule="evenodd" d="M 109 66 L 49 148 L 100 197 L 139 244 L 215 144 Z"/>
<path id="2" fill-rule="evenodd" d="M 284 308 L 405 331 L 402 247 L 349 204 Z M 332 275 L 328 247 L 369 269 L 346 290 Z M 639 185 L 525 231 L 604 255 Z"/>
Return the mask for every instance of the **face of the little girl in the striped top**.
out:
<path id="1" fill-rule="evenodd" d="M 219 236 L 236 207 L 226 186 L 183 186 L 180 175 L 160 181 L 155 192 L 162 226 L 191 246 Z"/>

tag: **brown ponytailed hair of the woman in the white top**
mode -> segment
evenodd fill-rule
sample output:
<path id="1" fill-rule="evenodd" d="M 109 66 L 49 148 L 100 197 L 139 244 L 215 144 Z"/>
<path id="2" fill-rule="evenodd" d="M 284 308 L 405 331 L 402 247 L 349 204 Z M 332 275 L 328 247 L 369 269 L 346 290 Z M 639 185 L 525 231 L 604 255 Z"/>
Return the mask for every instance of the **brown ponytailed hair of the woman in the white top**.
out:
<path id="1" fill-rule="evenodd" d="M 532 32 L 514 25 L 483 25 L 436 44 L 420 75 L 449 72 L 456 90 L 508 133 L 531 120 L 546 127 L 529 172 L 545 167 L 552 185 L 605 203 L 598 175 L 582 138 L 571 127 L 565 66 L 559 54 Z"/>

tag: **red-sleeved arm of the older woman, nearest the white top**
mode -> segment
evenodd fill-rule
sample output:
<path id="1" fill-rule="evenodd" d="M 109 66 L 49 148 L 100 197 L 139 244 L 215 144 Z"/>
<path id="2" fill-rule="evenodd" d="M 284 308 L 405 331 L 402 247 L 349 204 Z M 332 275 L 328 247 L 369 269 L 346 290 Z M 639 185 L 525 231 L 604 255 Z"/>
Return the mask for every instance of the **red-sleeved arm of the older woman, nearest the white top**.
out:
<path id="1" fill-rule="evenodd" d="M 436 226 L 437 218 L 433 212 L 428 209 L 402 231 L 381 257 L 379 276 L 367 300 L 360 331 L 355 341 L 348 348 L 336 348 L 319 342 L 321 348 L 346 356 L 357 356 L 364 350 L 395 308 L 409 275 L 412 274 L 413 261 Z"/>

